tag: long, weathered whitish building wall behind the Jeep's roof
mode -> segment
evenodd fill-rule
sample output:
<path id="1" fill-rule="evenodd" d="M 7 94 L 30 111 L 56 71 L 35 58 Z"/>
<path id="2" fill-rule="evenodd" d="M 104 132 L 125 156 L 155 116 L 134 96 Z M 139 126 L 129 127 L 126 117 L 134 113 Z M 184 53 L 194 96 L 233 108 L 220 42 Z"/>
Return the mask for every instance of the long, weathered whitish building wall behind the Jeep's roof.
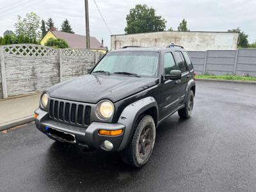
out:
<path id="1" fill-rule="evenodd" d="M 111 50 L 127 45 L 166 47 L 182 45 L 187 51 L 236 50 L 238 33 L 162 31 L 130 35 L 111 35 Z"/>

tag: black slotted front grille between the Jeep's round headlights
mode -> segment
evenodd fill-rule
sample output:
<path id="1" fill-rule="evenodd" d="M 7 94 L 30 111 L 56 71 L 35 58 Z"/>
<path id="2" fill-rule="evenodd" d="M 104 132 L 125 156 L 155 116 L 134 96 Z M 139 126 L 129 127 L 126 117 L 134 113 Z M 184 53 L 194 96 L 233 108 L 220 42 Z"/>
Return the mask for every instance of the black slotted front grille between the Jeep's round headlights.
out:
<path id="1" fill-rule="evenodd" d="M 60 122 L 90 125 L 91 106 L 68 100 L 50 100 L 49 116 Z"/>

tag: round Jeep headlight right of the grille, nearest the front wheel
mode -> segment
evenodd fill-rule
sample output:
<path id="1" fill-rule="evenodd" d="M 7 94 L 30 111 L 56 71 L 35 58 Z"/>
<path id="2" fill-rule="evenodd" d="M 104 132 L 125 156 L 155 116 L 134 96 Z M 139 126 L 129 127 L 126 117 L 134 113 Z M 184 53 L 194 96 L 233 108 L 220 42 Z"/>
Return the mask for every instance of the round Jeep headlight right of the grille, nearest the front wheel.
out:
<path id="1" fill-rule="evenodd" d="M 100 119 L 108 119 L 114 113 L 114 105 L 109 100 L 103 100 L 97 106 L 96 115 Z"/>

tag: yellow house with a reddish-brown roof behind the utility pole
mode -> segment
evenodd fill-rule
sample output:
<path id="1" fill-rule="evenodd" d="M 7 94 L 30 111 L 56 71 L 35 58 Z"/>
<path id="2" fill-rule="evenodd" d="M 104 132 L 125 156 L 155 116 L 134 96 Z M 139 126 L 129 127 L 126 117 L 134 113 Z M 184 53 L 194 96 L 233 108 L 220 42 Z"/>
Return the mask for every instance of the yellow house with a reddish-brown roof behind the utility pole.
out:
<path id="1" fill-rule="evenodd" d="M 49 30 L 45 36 L 42 38 L 40 44 L 45 45 L 49 38 L 61 38 L 68 43 L 70 48 L 86 48 L 85 36 L 77 35 L 73 33 L 67 33 L 63 31 Z M 103 45 L 103 39 L 101 43 L 94 36 L 90 36 L 90 49 L 92 51 L 100 51 L 106 53 L 108 51 L 107 47 Z"/>

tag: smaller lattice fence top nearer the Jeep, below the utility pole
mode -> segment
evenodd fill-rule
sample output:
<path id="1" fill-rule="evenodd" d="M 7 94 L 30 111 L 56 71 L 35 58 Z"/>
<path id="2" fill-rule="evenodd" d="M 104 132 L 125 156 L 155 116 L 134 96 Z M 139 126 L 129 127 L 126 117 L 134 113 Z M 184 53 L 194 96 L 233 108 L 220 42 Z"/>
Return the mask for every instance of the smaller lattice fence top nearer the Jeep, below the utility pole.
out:
<path id="1" fill-rule="evenodd" d="M 94 56 L 95 52 L 90 51 L 89 49 L 61 49 L 63 56 L 67 57 L 78 57 L 86 58 L 88 56 Z"/>

